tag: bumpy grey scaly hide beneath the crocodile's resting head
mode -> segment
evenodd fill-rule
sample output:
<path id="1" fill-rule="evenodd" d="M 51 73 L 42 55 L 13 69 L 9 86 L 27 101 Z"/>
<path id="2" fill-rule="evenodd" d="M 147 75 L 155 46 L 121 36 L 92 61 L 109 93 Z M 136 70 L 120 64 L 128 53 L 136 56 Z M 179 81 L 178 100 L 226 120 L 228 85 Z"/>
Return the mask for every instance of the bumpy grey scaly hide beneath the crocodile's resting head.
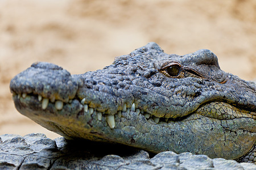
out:
<path id="1" fill-rule="evenodd" d="M 111 145 L 52 140 L 44 134 L 7 134 L 0 139 L 0 169 L 256 169 L 251 163 L 189 152 L 167 151 L 150 158 L 148 152 L 131 147 L 115 146 L 114 150 Z"/>

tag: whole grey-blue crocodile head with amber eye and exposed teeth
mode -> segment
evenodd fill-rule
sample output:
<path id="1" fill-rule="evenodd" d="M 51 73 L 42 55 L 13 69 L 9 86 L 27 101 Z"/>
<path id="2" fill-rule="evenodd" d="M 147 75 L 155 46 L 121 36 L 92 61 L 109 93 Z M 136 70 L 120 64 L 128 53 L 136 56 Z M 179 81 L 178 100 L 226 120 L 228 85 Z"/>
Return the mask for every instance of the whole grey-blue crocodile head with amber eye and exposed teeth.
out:
<path id="1" fill-rule="evenodd" d="M 80 75 L 38 62 L 10 89 L 20 113 L 67 139 L 226 159 L 255 150 L 255 84 L 210 50 L 177 56 L 151 42 Z"/>

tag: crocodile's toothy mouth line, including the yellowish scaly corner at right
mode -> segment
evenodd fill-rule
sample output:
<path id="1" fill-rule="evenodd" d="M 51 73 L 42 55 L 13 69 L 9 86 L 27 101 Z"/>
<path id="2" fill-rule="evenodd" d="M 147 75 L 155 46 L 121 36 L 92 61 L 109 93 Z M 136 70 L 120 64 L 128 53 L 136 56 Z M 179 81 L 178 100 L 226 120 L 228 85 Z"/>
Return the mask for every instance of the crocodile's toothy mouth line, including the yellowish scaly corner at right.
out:
<path id="1" fill-rule="evenodd" d="M 135 103 L 132 103 L 131 105 L 129 104 L 131 107 L 128 107 L 128 104 L 124 104 L 122 109 L 120 109 L 116 113 L 107 114 L 106 112 L 98 111 L 97 108 L 89 107 L 89 103 L 85 103 L 85 98 L 81 100 L 75 98 L 69 100 L 68 103 L 65 103 L 61 100 L 44 98 L 41 95 L 37 94 L 15 94 L 15 92 L 13 92 L 13 100 L 15 101 L 15 104 L 18 102 L 19 105 L 22 105 L 23 108 L 33 107 L 33 110 L 36 108 L 36 110 L 38 111 L 47 110 L 48 107 L 51 106 L 51 112 L 60 112 L 65 106 L 68 107 L 76 101 L 76 105 L 78 105 L 77 109 L 79 110 L 77 114 L 79 114 L 79 116 L 83 114 L 92 115 L 94 113 L 96 114 L 97 121 L 101 121 L 102 117 L 105 117 L 110 129 L 115 128 L 115 117 L 126 117 L 127 115 L 129 115 L 130 112 L 135 112 L 137 115 L 142 114 L 146 118 L 146 120 L 148 122 L 151 122 L 152 124 L 168 124 L 168 122 L 174 121 L 188 121 L 190 119 L 195 120 L 195 116 L 190 117 L 195 113 L 199 117 L 206 116 L 218 120 L 232 120 L 234 118 L 240 117 L 253 118 L 254 120 L 256 120 L 255 112 L 250 112 L 244 109 L 237 108 L 231 104 L 225 103 L 224 101 L 210 101 L 208 103 L 201 104 L 200 107 L 196 109 L 196 111 L 189 113 L 186 116 L 166 118 L 157 117 L 151 113 L 143 111 L 143 109 L 136 108 Z M 126 113 L 126 115 L 123 115 L 123 113 Z"/>

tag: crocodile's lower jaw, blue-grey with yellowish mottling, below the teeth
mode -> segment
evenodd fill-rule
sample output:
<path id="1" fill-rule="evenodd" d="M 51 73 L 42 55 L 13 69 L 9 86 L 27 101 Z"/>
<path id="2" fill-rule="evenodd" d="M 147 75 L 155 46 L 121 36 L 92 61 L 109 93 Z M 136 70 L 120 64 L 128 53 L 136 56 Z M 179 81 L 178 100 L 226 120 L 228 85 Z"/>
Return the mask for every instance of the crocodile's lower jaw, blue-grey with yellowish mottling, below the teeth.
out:
<path id="1" fill-rule="evenodd" d="M 113 115 L 112 127 L 109 114 L 85 109 L 78 100 L 61 110 L 51 102 L 43 110 L 40 101 L 30 95 L 20 99 L 16 95 L 14 102 L 20 113 L 67 139 L 117 142 L 156 153 L 172 150 L 226 159 L 240 158 L 255 144 L 255 120 L 249 117 L 218 120 L 202 116 L 199 109 L 182 121 L 166 122 L 161 118 L 156 122 L 146 118 L 147 113 L 127 108 Z"/>

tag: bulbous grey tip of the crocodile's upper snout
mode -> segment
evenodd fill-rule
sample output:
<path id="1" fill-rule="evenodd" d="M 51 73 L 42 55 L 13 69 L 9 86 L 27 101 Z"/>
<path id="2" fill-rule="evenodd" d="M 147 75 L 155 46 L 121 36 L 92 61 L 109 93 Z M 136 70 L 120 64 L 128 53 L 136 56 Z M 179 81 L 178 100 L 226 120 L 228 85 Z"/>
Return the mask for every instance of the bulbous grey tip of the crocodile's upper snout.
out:
<path id="1" fill-rule="evenodd" d="M 78 87 L 78 80 L 67 70 L 47 62 L 33 63 L 10 83 L 10 90 L 14 95 L 38 95 L 39 100 L 59 100 L 59 103 L 73 99 Z"/>

